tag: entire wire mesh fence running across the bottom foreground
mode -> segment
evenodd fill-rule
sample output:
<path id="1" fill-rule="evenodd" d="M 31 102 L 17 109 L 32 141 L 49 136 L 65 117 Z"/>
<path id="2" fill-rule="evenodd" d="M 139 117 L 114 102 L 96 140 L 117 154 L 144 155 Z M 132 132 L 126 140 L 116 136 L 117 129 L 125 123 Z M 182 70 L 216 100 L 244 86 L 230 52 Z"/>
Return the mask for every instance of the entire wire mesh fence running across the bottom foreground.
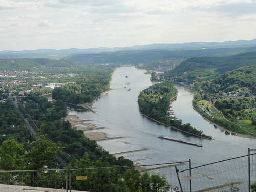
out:
<path id="1" fill-rule="evenodd" d="M 167 191 L 248 191 L 256 182 L 256 150 L 248 155 L 191 167 L 190 161 L 137 165 L 125 167 L 103 167 L 86 169 L 54 169 L 0 171 L 0 192 L 16 191 L 166 191 L 158 178 L 168 183 Z M 138 172 L 137 172 L 138 171 Z M 139 182 L 137 179 L 142 178 Z M 151 180 L 148 180 L 149 177 Z M 131 185 L 125 190 L 123 185 Z M 134 186 L 132 186 L 134 185 Z M 154 185 L 154 186 L 153 186 Z M 149 187 L 149 188 L 147 188 Z M 176 188 L 177 189 L 177 188 Z M 177 191 L 177 190 L 176 190 Z"/>

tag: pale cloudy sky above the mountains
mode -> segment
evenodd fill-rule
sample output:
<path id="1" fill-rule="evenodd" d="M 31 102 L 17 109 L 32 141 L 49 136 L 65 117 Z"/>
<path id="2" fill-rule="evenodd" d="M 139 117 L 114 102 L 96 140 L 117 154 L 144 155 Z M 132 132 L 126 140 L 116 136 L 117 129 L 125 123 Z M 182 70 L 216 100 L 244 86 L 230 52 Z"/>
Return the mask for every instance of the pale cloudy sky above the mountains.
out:
<path id="1" fill-rule="evenodd" d="M 0 0 L 0 51 L 256 38 L 256 0 Z"/>

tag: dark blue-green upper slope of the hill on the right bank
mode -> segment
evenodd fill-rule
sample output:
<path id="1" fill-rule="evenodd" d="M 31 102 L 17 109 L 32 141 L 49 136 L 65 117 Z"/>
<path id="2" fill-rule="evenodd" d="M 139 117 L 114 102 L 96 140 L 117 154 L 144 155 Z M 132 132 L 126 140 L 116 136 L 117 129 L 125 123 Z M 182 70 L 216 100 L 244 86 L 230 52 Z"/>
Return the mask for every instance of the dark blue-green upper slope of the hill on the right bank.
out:
<path id="1" fill-rule="evenodd" d="M 225 57 L 193 57 L 170 71 L 171 75 L 181 75 L 184 72 L 215 69 L 219 74 L 240 67 L 256 65 L 256 52 L 241 53 Z"/>

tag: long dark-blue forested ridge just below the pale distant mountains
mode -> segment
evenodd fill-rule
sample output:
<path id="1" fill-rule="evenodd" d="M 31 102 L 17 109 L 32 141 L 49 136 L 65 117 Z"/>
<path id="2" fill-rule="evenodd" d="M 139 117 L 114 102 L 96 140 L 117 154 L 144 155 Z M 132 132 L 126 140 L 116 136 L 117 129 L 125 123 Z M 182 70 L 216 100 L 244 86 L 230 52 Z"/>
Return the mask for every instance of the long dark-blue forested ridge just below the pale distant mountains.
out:
<path id="1" fill-rule="evenodd" d="M 237 53 L 256 51 L 256 47 L 251 48 L 222 48 L 222 49 L 199 49 L 199 50 L 130 50 L 102 53 L 75 54 L 63 57 L 82 64 L 101 63 L 121 63 L 138 65 L 153 60 L 164 58 L 184 58 L 202 56 L 229 56 Z"/>

